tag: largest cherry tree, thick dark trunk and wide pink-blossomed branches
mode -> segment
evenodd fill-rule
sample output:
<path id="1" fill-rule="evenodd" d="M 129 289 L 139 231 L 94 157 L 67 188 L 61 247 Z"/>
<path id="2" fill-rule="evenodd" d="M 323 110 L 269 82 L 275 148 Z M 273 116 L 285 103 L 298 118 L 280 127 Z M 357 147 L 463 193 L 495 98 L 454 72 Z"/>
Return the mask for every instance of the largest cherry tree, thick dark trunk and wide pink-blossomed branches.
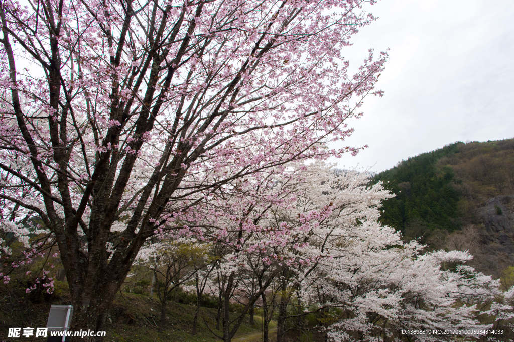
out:
<path id="1" fill-rule="evenodd" d="M 221 186 L 358 151 L 326 143 L 381 95 L 386 53 L 343 58 L 362 3 L 2 0 L 1 210 L 52 232 L 75 329 L 100 330 L 143 243 Z"/>

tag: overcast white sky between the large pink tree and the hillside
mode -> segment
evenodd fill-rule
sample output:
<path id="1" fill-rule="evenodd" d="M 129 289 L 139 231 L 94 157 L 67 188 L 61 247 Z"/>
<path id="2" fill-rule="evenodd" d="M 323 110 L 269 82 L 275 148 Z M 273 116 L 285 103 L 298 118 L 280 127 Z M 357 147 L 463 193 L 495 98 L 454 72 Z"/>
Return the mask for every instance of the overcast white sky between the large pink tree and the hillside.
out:
<path id="1" fill-rule="evenodd" d="M 454 141 L 514 136 L 514 1 L 382 0 L 351 62 L 390 48 L 378 88 L 344 144 L 370 147 L 339 167 L 379 172 Z M 355 55 L 354 55 L 355 53 Z"/>

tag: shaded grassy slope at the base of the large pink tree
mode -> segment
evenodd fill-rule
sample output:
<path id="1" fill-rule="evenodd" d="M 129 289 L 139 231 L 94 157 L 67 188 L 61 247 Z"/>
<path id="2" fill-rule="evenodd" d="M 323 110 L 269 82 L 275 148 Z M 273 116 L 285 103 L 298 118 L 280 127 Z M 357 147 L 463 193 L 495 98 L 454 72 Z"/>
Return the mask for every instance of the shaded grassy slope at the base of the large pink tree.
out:
<path id="1" fill-rule="evenodd" d="M 68 304 L 69 297 L 42 298 L 40 303 L 32 303 L 23 293 L 21 284 L 11 283 L 0 286 L 0 341 L 8 339 L 8 328 L 39 328 L 46 326 L 51 304 Z M 130 293 L 118 293 L 113 308 L 108 314 L 105 330 L 105 341 L 108 342 L 204 342 L 219 341 L 205 325 L 203 319 L 198 322 L 197 334 L 191 334 L 194 307 L 170 302 L 168 306 L 167 325 L 159 331 L 159 302 L 157 298 Z M 215 328 L 216 310 L 201 308 L 200 315 L 211 329 Z M 261 320 L 255 317 L 255 325 L 246 320 L 237 332 L 234 342 L 259 341 L 261 336 Z M 276 326 L 271 325 L 270 337 Z M 221 334 L 216 331 L 216 333 Z M 29 340 L 23 338 L 24 340 Z M 41 339 L 39 339 L 41 340 Z M 273 339 L 271 339 L 273 340 Z"/>

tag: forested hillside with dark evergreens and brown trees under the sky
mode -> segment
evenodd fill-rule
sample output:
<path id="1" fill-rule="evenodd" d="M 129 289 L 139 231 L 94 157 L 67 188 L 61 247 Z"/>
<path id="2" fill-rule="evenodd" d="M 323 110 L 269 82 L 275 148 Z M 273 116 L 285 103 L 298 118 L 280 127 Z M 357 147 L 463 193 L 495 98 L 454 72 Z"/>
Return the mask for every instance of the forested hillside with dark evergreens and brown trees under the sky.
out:
<path id="1" fill-rule="evenodd" d="M 455 142 L 375 176 L 396 196 L 381 222 L 430 248 L 469 249 L 482 272 L 514 264 L 514 139 Z"/>

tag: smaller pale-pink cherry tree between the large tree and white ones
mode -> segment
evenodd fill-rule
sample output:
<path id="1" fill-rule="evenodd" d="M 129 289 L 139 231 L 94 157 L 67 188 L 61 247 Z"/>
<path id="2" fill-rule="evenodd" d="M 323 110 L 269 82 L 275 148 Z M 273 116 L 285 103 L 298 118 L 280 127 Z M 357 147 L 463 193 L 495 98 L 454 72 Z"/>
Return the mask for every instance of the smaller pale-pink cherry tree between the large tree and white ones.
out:
<path id="1" fill-rule="evenodd" d="M 272 225 L 277 208 L 294 205 L 298 182 L 295 169 L 282 175 L 248 176 L 221 187 L 201 209 L 188 215 L 190 231 L 230 248 L 225 249 L 217 269 L 221 331 L 230 342 L 248 313 L 273 282 L 286 260 L 273 253 L 272 245 L 288 244 L 288 231 L 296 227 Z M 184 216 L 186 217 L 186 215 Z M 203 219 L 202 220 L 200 220 Z M 253 282 L 252 282 L 253 281 Z M 256 281 L 260 281 L 256 286 Z M 248 285 L 252 282 L 252 285 Z M 230 317 L 230 302 L 242 304 L 242 310 Z"/>

